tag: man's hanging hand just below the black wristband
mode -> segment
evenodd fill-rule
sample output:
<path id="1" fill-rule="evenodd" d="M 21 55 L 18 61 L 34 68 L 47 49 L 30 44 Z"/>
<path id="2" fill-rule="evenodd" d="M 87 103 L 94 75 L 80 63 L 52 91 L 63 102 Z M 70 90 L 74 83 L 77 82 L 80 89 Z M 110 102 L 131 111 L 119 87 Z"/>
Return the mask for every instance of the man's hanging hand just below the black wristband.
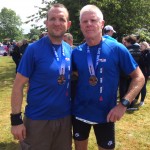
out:
<path id="1" fill-rule="evenodd" d="M 11 133 L 16 140 L 23 141 L 26 138 L 26 128 L 24 124 L 12 126 Z"/>

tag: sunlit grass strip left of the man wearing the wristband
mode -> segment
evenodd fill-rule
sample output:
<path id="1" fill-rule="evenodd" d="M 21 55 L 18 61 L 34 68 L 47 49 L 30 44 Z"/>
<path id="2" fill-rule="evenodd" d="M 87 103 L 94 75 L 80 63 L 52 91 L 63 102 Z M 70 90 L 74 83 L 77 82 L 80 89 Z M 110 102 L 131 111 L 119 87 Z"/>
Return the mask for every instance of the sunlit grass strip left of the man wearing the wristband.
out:
<path id="1" fill-rule="evenodd" d="M 11 57 L 0 57 L 0 150 L 15 150 L 16 141 L 10 134 L 10 96 L 15 77 Z"/>

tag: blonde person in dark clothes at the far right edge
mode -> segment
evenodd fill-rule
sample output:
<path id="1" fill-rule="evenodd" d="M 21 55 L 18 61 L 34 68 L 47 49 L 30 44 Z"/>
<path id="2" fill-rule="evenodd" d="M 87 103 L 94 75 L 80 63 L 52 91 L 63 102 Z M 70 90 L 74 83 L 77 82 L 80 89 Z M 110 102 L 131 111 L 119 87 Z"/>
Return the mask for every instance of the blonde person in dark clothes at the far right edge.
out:
<path id="1" fill-rule="evenodd" d="M 141 50 L 141 55 L 139 59 L 139 67 L 145 77 L 145 84 L 140 91 L 141 98 L 140 98 L 139 106 L 143 106 L 146 93 L 147 93 L 146 85 L 147 85 L 148 77 L 150 76 L 150 46 L 149 44 L 147 42 L 141 42 L 140 50 Z"/>

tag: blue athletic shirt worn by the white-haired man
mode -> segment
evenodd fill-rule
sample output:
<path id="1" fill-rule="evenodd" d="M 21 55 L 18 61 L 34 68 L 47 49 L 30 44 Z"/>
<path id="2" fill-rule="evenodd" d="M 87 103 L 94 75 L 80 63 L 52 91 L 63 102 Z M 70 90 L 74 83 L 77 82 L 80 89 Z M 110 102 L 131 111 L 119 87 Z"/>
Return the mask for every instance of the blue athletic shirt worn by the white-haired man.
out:
<path id="1" fill-rule="evenodd" d="M 99 44 L 90 47 L 93 65 L 96 64 Z M 105 39 L 102 42 L 97 69 L 98 83 L 89 84 L 87 44 L 76 47 L 72 53 L 72 69 L 78 71 L 76 97 L 72 101 L 72 113 L 78 118 L 91 122 L 107 122 L 107 114 L 116 106 L 120 70 L 130 74 L 137 68 L 127 48 L 119 42 Z"/>

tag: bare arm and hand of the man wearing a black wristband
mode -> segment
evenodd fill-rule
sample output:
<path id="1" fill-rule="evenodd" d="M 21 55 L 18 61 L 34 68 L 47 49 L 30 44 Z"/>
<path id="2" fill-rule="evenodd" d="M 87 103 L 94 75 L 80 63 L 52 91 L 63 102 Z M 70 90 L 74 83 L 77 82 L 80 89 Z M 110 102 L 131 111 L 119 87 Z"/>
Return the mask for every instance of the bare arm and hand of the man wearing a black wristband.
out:
<path id="1" fill-rule="evenodd" d="M 22 141 L 26 137 L 26 129 L 24 125 L 18 123 L 19 114 L 21 113 L 22 101 L 23 101 L 23 88 L 28 82 L 28 78 L 17 73 L 11 95 L 11 123 L 12 125 L 11 133 L 14 139 Z M 19 120 L 20 122 L 20 120 Z M 17 124 L 17 125 L 16 125 Z"/>

